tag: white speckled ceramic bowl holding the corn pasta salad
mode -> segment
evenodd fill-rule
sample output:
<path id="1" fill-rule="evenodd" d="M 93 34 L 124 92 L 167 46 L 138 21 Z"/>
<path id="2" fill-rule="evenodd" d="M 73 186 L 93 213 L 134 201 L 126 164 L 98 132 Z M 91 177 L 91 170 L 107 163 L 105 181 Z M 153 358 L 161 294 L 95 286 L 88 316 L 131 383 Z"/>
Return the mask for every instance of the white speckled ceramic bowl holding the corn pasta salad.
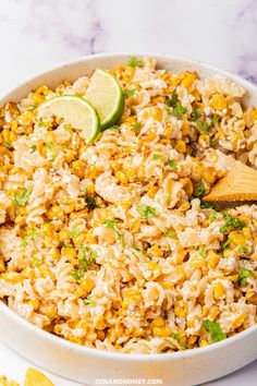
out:
<path id="1" fill-rule="evenodd" d="M 145 55 L 136 55 L 144 57 Z M 203 77 L 221 75 L 242 85 L 245 104 L 257 105 L 257 87 L 249 82 L 200 62 L 183 58 L 147 55 L 158 65 L 173 72 L 197 71 Z M 32 89 L 47 84 L 57 86 L 90 74 L 96 68 L 124 64 L 128 55 L 96 55 L 54 67 L 23 83 L 0 98 L 20 100 Z M 0 338 L 21 355 L 61 376 L 95 385 L 97 378 L 161 378 L 167 386 L 192 386 L 229 374 L 257 358 L 257 325 L 221 342 L 185 352 L 125 354 L 82 347 L 29 324 L 0 302 Z"/>

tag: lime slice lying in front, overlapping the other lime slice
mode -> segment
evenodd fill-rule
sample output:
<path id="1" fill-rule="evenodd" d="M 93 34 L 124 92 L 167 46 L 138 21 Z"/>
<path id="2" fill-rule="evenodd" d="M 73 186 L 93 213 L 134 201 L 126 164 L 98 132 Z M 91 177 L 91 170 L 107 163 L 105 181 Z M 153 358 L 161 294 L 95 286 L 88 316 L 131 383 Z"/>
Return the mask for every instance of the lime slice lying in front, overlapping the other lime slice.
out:
<path id="1" fill-rule="evenodd" d="M 38 109 L 38 118 L 56 116 L 79 131 L 81 136 L 91 142 L 100 130 L 96 109 L 84 98 L 75 95 L 62 95 L 44 102 Z"/>

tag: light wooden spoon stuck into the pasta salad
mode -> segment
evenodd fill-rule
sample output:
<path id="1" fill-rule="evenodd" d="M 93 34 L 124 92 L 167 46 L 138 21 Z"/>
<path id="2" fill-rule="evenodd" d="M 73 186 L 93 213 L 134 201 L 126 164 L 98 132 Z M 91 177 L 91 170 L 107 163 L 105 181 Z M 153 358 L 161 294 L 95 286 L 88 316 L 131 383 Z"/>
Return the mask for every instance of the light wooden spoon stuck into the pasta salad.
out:
<path id="1" fill-rule="evenodd" d="M 229 171 L 204 196 L 205 201 L 257 201 L 257 170 L 236 161 L 228 160 Z"/>

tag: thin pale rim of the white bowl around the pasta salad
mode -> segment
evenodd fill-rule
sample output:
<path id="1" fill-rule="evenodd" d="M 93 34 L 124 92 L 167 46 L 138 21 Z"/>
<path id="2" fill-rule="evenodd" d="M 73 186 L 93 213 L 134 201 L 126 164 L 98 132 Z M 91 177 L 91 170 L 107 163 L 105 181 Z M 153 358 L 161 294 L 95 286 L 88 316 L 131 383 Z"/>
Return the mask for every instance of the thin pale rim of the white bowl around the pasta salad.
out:
<path id="1" fill-rule="evenodd" d="M 33 82 L 36 82 L 39 77 L 41 76 L 47 76 L 51 75 L 51 73 L 59 71 L 63 68 L 69 68 L 70 65 L 73 64 L 78 64 L 82 62 L 90 62 L 97 59 L 121 59 L 121 58 L 130 58 L 130 57 L 150 57 L 157 60 L 169 60 L 169 61 L 175 61 L 175 62 L 182 62 L 182 63 L 188 63 L 192 68 L 194 67 L 200 67 L 203 70 L 209 70 L 211 72 L 215 72 L 218 76 L 224 76 L 227 79 L 232 80 L 233 82 L 243 85 L 243 87 L 247 88 L 247 92 L 249 93 L 256 93 L 257 96 L 257 85 L 252 83 L 248 80 L 243 79 L 240 75 L 233 74 L 228 70 L 222 70 L 219 67 L 209 64 L 205 61 L 201 60 L 194 60 L 189 59 L 186 57 L 180 57 L 180 56 L 170 56 L 166 53 L 157 53 L 157 52 L 105 52 L 105 53 L 95 53 L 95 55 L 88 55 L 88 56 L 82 56 L 78 58 L 74 58 L 71 60 L 65 60 L 65 61 L 60 61 L 54 65 L 47 67 L 45 70 L 38 71 L 34 73 L 32 76 L 24 79 L 23 81 L 19 82 L 16 85 L 12 86 L 10 89 L 5 89 L 0 94 L 0 106 L 2 102 L 5 102 L 4 99 L 7 99 L 9 96 L 14 94 L 15 92 L 19 92 L 20 88 L 24 87 L 25 85 L 29 85 Z M 197 71 L 197 70 L 196 70 Z M 41 339 L 52 342 L 60 348 L 66 348 L 71 351 L 75 350 L 82 354 L 88 353 L 90 355 L 99 357 L 102 359 L 114 359 L 114 360 L 127 360 L 128 362 L 133 361 L 139 361 L 139 362 L 149 362 L 149 361 L 155 361 L 155 362 L 162 362 L 163 360 L 170 361 L 170 360 L 179 360 L 179 359 L 186 359 L 188 357 L 197 357 L 200 354 L 205 354 L 207 352 L 212 352 L 220 350 L 224 348 L 225 346 L 233 346 L 233 343 L 236 343 L 238 340 L 243 340 L 245 338 L 248 338 L 253 334 L 257 334 L 257 324 L 238 333 L 235 334 L 232 337 L 225 338 L 222 341 L 211 343 L 206 347 L 200 347 L 197 349 L 187 349 L 185 351 L 174 351 L 174 352 L 166 352 L 166 353 L 125 353 L 125 352 L 117 352 L 117 351 L 107 351 L 107 350 L 100 350 L 96 348 L 90 348 L 86 346 L 81 346 L 78 343 L 74 343 L 72 341 L 69 341 L 64 338 L 61 338 L 57 335 L 53 335 L 51 333 L 48 333 L 36 325 L 32 324 L 30 322 L 26 321 L 19 314 L 16 314 L 13 310 L 11 310 L 2 300 L 0 300 L 0 312 L 3 312 L 7 317 L 10 317 L 14 321 L 14 323 L 20 324 L 24 329 L 27 329 L 29 333 L 38 335 Z"/>

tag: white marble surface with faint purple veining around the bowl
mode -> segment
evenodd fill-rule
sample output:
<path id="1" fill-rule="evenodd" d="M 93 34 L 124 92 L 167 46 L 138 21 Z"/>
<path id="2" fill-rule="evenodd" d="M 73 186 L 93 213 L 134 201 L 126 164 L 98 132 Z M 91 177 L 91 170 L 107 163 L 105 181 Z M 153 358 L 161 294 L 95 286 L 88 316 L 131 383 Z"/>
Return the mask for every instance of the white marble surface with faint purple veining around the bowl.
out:
<path id="1" fill-rule="evenodd" d="M 257 0 L 0 0 L 0 92 L 57 62 L 101 51 L 200 59 L 257 84 L 256 38 Z M 0 359 L 0 373 L 22 381 L 28 362 L 2 343 Z M 257 361 L 211 385 L 256 379 Z"/>

